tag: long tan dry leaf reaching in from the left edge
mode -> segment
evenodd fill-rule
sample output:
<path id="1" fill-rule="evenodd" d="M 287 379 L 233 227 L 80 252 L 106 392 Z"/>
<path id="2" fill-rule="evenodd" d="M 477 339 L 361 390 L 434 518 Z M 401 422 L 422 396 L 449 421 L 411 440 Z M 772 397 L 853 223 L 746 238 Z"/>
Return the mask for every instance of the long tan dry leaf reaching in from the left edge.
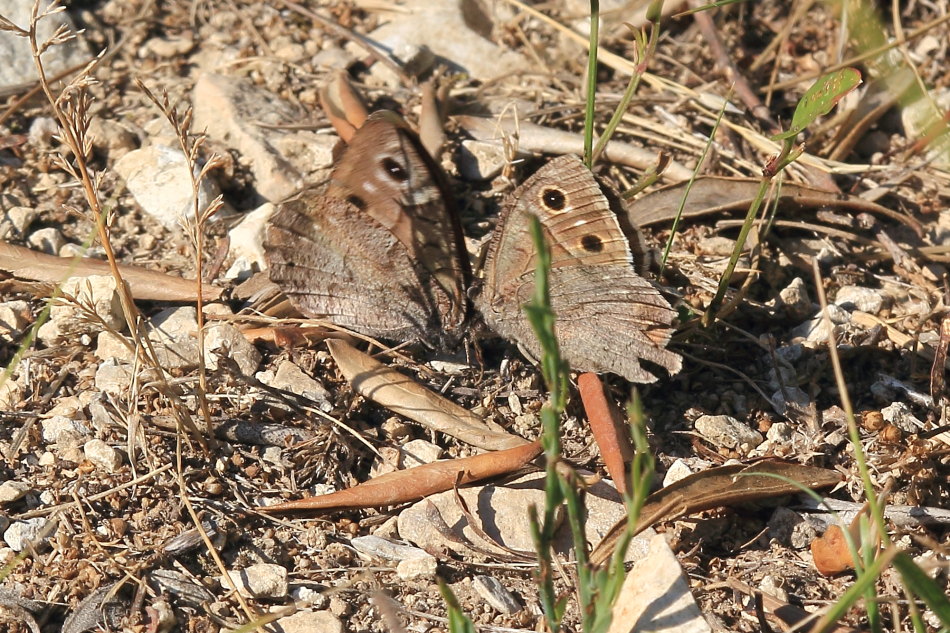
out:
<path id="1" fill-rule="evenodd" d="M 22 246 L 0 242 L 0 270 L 14 277 L 60 283 L 69 277 L 111 275 L 109 263 L 99 259 L 54 257 Z M 133 299 L 143 301 L 197 301 L 197 288 L 190 279 L 182 279 L 138 266 L 119 264 L 122 279 L 129 285 Z M 206 301 L 221 296 L 221 288 L 204 284 Z"/>

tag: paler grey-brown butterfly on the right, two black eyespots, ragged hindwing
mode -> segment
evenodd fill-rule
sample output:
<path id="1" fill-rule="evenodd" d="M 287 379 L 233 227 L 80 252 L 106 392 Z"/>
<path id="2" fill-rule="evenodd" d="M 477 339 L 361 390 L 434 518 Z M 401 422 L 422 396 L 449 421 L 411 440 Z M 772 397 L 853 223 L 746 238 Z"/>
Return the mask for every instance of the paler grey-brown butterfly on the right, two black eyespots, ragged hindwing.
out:
<path id="1" fill-rule="evenodd" d="M 682 359 L 666 349 L 675 312 L 636 273 L 628 237 L 601 185 L 574 156 L 552 160 L 505 201 L 476 298 L 486 323 L 540 352 L 522 310 L 534 293 L 531 214 L 541 220 L 551 248 L 551 304 L 571 366 L 641 383 L 656 380 L 642 360 L 678 372 Z"/>

